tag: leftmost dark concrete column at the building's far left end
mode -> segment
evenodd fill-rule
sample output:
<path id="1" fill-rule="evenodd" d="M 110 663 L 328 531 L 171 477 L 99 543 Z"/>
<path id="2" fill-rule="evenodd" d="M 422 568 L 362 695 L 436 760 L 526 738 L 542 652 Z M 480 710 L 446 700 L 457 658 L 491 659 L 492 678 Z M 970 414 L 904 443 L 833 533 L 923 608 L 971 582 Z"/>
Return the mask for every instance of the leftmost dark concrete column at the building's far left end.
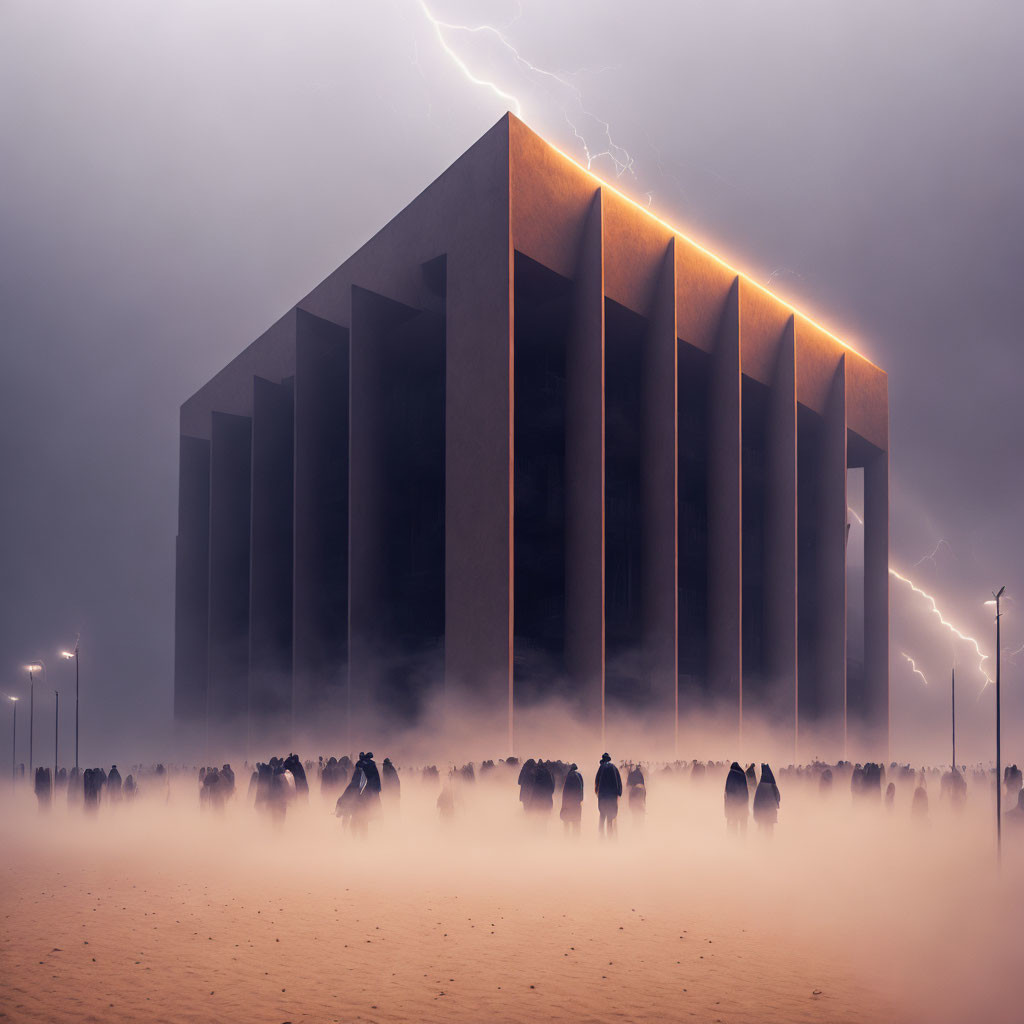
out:
<path id="1" fill-rule="evenodd" d="M 210 442 L 181 435 L 175 546 L 174 717 L 206 717 L 210 630 Z"/>

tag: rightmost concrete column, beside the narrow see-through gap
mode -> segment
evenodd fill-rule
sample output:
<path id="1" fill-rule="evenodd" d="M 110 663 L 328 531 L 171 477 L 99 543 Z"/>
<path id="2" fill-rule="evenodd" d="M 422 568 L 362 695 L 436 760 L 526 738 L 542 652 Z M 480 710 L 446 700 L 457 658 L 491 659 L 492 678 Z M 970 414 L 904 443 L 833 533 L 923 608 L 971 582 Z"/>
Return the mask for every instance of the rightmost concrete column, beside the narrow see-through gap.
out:
<path id="1" fill-rule="evenodd" d="M 864 711 L 866 739 L 889 758 L 889 453 L 864 467 Z"/>

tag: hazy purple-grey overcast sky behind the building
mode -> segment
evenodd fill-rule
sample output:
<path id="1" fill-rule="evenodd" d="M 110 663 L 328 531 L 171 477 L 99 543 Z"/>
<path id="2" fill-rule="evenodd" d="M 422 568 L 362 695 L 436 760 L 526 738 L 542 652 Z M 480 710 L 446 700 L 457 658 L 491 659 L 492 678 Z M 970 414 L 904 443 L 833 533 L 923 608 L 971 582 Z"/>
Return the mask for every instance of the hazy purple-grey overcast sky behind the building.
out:
<path id="1" fill-rule="evenodd" d="M 81 632 L 83 761 L 165 733 L 178 407 L 515 103 L 888 371 L 893 565 L 1024 644 L 1024 8 L 428 2 L 0 0 L 0 690 Z M 987 756 L 972 646 L 893 600 L 895 753 L 955 655 Z"/>

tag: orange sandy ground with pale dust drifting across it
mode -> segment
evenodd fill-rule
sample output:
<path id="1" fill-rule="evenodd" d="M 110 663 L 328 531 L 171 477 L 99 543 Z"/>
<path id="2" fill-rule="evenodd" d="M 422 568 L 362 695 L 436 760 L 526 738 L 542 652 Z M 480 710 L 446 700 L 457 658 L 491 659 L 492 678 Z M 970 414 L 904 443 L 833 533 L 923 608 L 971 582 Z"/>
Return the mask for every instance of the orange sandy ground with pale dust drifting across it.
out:
<path id="1" fill-rule="evenodd" d="M 771 842 L 727 841 L 717 785 L 652 787 L 642 827 L 626 812 L 599 842 L 588 815 L 567 841 L 483 788 L 445 831 L 408 785 L 367 841 L 315 797 L 283 831 L 201 816 L 187 787 L 90 821 L 8 800 L 0 1019 L 1021 1019 L 1020 871 L 965 872 L 984 843 L 940 844 L 939 821 L 783 796 Z"/>

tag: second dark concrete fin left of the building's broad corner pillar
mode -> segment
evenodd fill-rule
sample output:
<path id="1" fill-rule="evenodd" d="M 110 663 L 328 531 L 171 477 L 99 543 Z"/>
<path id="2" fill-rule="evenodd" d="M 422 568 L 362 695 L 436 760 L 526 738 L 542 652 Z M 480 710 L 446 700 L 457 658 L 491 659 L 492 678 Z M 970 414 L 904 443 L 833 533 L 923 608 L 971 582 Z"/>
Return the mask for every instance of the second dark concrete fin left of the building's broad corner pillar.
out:
<path id="1" fill-rule="evenodd" d="M 292 728 L 349 746 L 348 331 L 295 315 Z"/>

